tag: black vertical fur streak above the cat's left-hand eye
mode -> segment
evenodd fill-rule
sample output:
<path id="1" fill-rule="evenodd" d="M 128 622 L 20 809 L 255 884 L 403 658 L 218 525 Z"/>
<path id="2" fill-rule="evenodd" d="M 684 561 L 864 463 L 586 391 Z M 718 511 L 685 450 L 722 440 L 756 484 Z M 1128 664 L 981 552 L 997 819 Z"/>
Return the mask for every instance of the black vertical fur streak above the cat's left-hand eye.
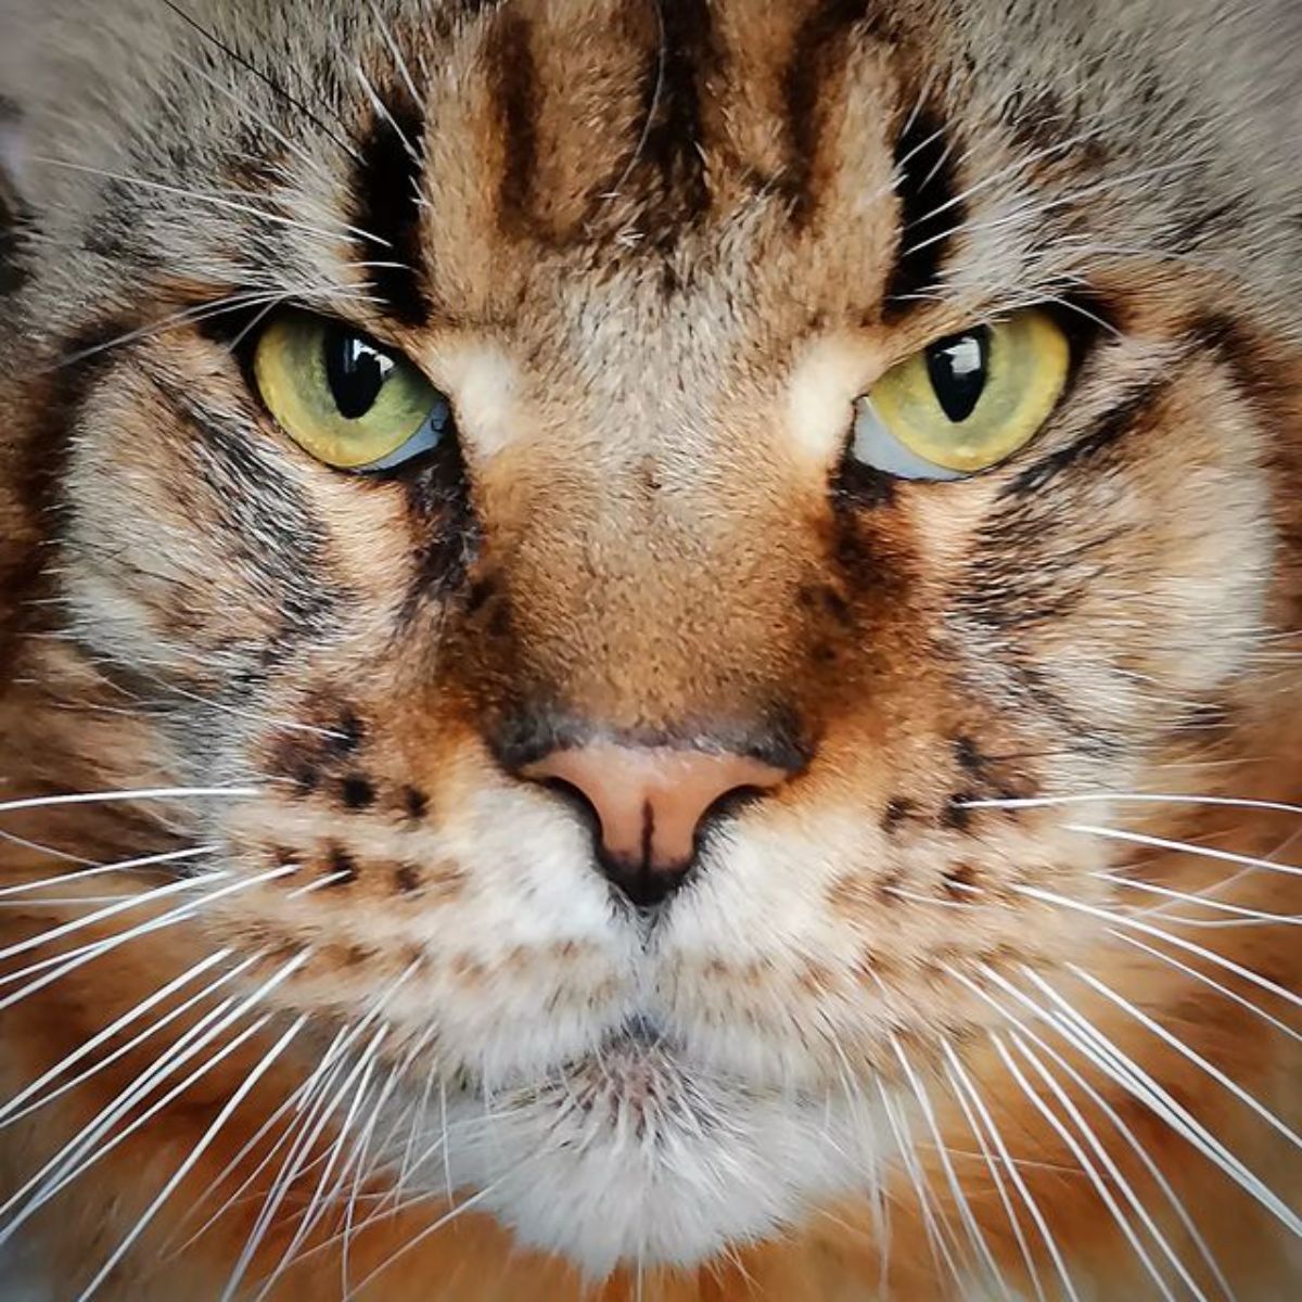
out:
<path id="1" fill-rule="evenodd" d="M 430 318 L 418 203 L 424 120 L 415 105 L 397 98 L 385 107 L 388 117 L 376 112 L 358 151 L 353 225 L 365 232 L 358 237 L 363 262 L 395 263 L 368 268 L 375 293 L 404 326 L 423 326 Z"/>

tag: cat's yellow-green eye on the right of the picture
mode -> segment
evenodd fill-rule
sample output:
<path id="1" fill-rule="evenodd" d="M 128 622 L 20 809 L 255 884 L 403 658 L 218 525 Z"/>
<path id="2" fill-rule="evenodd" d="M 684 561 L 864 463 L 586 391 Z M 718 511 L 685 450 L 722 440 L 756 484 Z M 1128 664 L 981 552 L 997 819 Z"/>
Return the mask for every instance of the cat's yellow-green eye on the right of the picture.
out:
<path id="1" fill-rule="evenodd" d="M 901 479 L 962 479 L 1030 443 L 1070 367 L 1066 336 L 1029 309 L 936 340 L 855 402 L 850 456 Z"/>

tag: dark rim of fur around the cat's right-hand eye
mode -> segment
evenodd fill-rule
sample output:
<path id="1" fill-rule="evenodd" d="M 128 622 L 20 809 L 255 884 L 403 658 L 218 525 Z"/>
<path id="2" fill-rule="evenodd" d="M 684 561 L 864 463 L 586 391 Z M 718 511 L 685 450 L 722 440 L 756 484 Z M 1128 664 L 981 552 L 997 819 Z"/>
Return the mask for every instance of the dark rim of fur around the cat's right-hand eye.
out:
<path id="1" fill-rule="evenodd" d="M 1027 302 L 1021 305 L 1017 311 L 1044 312 L 1044 315 L 1048 316 L 1055 326 L 1057 326 L 1057 328 L 1062 332 L 1062 337 L 1066 340 L 1068 371 L 1066 379 L 1062 383 L 1062 392 L 1059 395 L 1057 404 L 1053 408 L 1053 410 L 1057 411 L 1072 398 L 1079 384 L 1081 374 L 1085 370 L 1086 362 L 1098 350 L 1103 337 L 1105 335 L 1121 332 L 1118 324 L 1120 312 L 1108 299 L 1088 289 L 1078 289 L 1052 299 Z M 1012 312 L 993 315 L 984 320 L 974 320 L 973 326 L 993 326 L 1000 320 L 1006 319 L 1009 315 L 1012 315 Z M 970 329 L 973 327 L 967 328 Z M 923 344 L 922 346 L 931 348 L 945 339 L 950 339 L 954 335 L 961 333 L 963 333 L 962 329 L 947 331 L 944 335 L 937 335 L 934 340 Z M 902 362 L 904 358 L 900 361 Z M 971 474 L 965 474 L 956 479 L 907 479 L 902 475 L 892 475 L 889 471 L 878 470 L 875 466 L 865 465 L 852 454 L 852 449 L 854 447 L 854 423 L 858 404 L 867 395 L 859 395 L 859 397 L 857 397 L 852 404 L 850 419 L 846 426 L 841 456 L 836 466 L 832 469 L 829 493 L 833 504 L 837 506 L 862 509 L 888 505 L 894 500 L 896 488 L 901 484 L 905 490 L 914 492 L 934 492 L 937 490 L 937 486 L 941 490 L 952 492 L 957 484 L 967 483 L 975 479 L 991 478 L 999 474 L 1006 474 L 1008 467 L 1019 460 L 1023 452 L 1034 448 L 1039 441 L 1039 436 L 1036 435 L 1023 448 L 1019 448 L 1013 453 L 1013 456 L 1005 458 L 1004 461 L 996 462 L 992 466 L 986 466 L 982 470 L 974 470 Z M 1052 419 L 1052 413 L 1049 419 Z"/>

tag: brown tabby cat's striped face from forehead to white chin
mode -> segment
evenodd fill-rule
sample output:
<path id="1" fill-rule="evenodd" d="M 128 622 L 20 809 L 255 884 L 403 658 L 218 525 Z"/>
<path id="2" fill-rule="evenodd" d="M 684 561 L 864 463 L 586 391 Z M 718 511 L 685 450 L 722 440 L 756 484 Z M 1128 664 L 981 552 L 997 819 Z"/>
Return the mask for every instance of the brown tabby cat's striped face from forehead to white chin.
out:
<path id="1" fill-rule="evenodd" d="M 96 197 L 25 299 L 53 617 L 229 788 L 197 944 L 388 1073 L 376 1169 L 598 1275 L 874 1190 L 1000 983 L 1124 984 L 1108 793 L 1268 699 L 1293 434 L 1181 260 L 1262 219 L 1197 87 L 1070 70 L 1120 18 L 1031 59 L 996 8 L 223 5 L 270 76 L 169 18 L 44 182 Z M 1018 329 L 1021 443 L 865 450 Z M 285 415 L 329 348 L 414 378 L 415 452 Z"/>

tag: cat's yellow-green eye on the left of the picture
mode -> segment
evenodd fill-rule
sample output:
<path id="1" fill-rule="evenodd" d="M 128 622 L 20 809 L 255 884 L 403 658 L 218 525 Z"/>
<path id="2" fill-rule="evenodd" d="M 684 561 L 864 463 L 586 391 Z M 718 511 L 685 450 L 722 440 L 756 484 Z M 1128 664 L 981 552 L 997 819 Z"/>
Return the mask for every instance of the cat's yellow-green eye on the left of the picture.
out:
<path id="1" fill-rule="evenodd" d="M 405 357 L 309 312 L 263 331 L 254 376 L 285 434 L 341 470 L 401 465 L 452 430 L 448 400 Z"/>

